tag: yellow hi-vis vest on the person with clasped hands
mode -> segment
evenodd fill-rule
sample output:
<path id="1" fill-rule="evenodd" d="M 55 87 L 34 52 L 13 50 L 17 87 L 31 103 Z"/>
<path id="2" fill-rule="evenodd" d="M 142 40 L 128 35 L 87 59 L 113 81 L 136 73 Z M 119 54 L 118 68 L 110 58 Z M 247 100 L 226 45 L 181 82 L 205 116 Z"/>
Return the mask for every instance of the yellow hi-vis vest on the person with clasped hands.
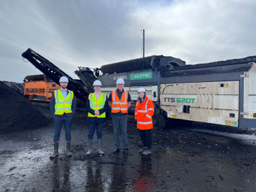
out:
<path id="1" fill-rule="evenodd" d="M 103 94 L 101 93 L 101 95 L 99 96 L 99 98 L 97 99 L 95 94 L 90 94 L 88 99 L 90 100 L 90 109 L 92 110 L 99 110 L 102 109 L 105 105 L 105 101 L 107 99 L 107 94 Z M 92 113 L 88 112 L 88 117 L 91 118 L 105 118 L 106 117 L 106 113 L 102 113 L 101 115 L 92 115 Z"/>

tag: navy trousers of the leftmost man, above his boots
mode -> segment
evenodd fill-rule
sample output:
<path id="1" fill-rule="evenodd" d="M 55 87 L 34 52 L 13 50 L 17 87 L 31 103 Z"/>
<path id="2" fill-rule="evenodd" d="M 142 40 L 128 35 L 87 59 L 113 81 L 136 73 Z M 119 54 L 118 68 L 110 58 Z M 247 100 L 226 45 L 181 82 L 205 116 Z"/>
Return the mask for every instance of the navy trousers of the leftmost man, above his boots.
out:
<path id="1" fill-rule="evenodd" d="M 64 126 L 65 126 L 66 141 L 67 142 L 71 141 L 72 119 L 73 119 L 73 115 L 68 116 L 68 117 L 65 114 L 62 115 L 62 117 L 60 117 L 58 115 L 54 116 L 55 133 L 54 133 L 54 137 L 53 137 L 53 143 L 57 143 L 58 141 L 60 141 L 60 131 L 62 130 L 62 123 L 63 122 L 64 122 Z"/>

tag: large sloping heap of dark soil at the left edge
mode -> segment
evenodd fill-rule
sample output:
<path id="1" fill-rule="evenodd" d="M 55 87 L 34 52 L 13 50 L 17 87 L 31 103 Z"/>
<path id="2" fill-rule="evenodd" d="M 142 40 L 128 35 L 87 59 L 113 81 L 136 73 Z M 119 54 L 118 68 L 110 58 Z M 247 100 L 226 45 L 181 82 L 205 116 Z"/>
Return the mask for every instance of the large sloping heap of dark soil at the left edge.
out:
<path id="1" fill-rule="evenodd" d="M 1 82 L 0 98 L 1 133 L 40 128 L 49 124 L 49 120 L 38 108 Z"/>

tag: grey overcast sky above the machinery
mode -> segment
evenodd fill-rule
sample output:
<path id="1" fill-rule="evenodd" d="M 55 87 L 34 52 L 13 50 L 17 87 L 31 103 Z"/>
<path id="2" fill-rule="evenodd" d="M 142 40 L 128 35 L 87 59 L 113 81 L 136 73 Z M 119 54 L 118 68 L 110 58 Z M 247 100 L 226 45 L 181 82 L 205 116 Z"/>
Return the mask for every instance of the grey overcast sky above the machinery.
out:
<path id="1" fill-rule="evenodd" d="M 41 74 L 33 49 L 77 79 L 77 66 L 165 55 L 187 64 L 256 55 L 255 0 L 0 1 L 0 81 Z"/>

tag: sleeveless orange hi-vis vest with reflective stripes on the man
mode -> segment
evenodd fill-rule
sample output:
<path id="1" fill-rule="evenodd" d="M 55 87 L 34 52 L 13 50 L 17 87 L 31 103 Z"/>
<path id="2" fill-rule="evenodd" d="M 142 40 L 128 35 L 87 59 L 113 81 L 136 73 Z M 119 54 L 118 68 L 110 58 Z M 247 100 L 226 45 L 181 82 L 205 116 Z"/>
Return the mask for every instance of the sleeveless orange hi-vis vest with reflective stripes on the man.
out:
<path id="1" fill-rule="evenodd" d="M 128 92 L 124 91 L 121 99 L 118 98 L 117 90 L 112 91 L 112 113 L 128 113 Z"/>

